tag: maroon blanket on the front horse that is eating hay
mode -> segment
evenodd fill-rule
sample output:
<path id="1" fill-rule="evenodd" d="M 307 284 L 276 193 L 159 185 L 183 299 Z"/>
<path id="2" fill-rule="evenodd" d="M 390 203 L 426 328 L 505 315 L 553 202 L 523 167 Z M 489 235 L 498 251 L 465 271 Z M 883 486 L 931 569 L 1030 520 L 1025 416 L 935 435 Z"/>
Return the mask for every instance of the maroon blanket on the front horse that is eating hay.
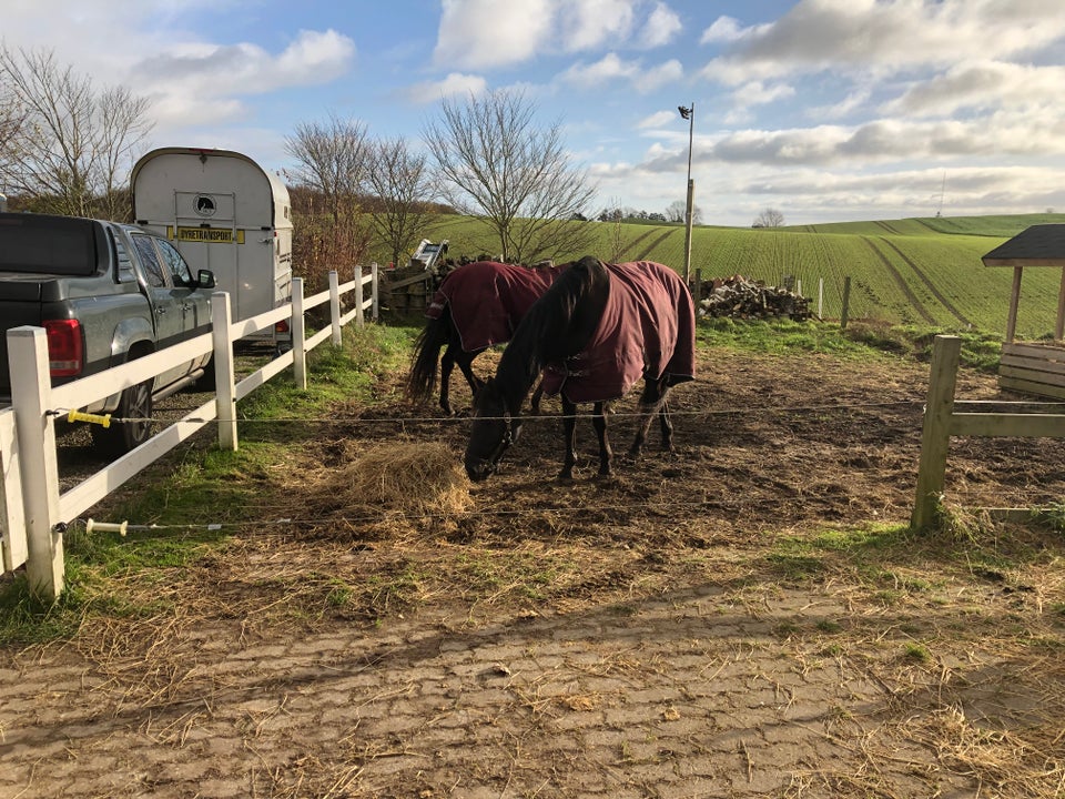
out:
<path id="1" fill-rule="evenodd" d="M 694 378 L 696 307 L 688 286 L 652 261 L 604 264 L 610 296 L 588 346 L 544 371 L 544 391 L 570 402 L 607 402 L 638 380 L 668 376 L 669 385 Z"/>

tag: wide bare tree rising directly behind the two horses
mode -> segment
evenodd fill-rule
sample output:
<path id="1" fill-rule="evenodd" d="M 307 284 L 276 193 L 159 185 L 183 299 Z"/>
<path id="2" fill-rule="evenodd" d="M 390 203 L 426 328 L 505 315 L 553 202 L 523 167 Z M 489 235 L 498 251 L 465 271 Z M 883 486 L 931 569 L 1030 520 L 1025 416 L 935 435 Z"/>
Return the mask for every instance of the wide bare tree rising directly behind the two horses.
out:
<path id="1" fill-rule="evenodd" d="M 591 225 L 571 221 L 594 195 L 570 166 L 558 122 L 540 128 L 521 92 L 444 100 L 424 139 L 455 208 L 481 216 L 506 261 L 531 263 L 586 251 Z"/>

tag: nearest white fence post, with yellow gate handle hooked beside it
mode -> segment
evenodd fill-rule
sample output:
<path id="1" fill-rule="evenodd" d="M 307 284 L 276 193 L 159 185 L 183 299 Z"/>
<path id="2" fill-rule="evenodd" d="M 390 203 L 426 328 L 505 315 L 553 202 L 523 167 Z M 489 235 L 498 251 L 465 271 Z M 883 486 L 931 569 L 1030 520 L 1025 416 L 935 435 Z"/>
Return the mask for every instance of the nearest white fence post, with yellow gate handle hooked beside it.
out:
<path id="1" fill-rule="evenodd" d="M 26 574 L 30 590 L 52 601 L 63 593 L 63 534 L 53 529 L 59 518 L 59 465 L 51 409 L 52 380 L 48 367 L 48 337 L 42 327 L 8 331 L 12 381 L 11 407 L 22 464 L 26 514 Z"/>

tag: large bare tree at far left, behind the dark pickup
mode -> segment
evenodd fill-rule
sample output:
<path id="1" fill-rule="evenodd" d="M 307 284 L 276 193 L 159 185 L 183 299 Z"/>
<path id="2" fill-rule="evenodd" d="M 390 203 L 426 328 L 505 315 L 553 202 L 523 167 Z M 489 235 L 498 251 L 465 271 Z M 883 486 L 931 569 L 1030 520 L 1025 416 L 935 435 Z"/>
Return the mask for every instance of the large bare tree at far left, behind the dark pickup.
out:
<path id="1" fill-rule="evenodd" d="M 51 51 L 0 48 L 0 82 L 16 124 L 0 136 L 0 178 L 36 210 L 125 219 L 126 175 L 151 131 L 149 101 L 97 91 Z"/>

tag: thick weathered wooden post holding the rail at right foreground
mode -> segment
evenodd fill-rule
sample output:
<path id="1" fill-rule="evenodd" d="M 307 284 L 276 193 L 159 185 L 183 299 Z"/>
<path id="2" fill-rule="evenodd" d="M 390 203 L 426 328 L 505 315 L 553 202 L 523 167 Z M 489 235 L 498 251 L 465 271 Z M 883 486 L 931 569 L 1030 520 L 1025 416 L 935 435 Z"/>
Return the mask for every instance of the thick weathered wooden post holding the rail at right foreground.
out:
<path id="1" fill-rule="evenodd" d="M 962 340 L 957 336 L 939 335 L 932 346 L 929 397 L 921 434 L 921 463 L 917 467 L 917 495 L 910 519 L 910 529 L 917 533 L 934 525 L 936 507 L 943 496 L 961 351 Z"/>

